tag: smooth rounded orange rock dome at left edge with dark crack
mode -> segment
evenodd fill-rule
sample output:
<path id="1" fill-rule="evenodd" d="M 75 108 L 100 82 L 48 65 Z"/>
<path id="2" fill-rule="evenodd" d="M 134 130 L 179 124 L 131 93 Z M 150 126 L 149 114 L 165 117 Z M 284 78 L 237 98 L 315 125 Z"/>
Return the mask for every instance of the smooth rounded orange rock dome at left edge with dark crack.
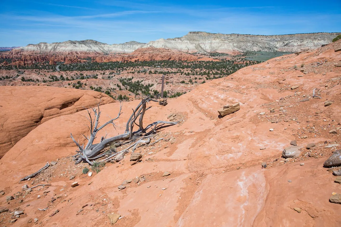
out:
<path id="1" fill-rule="evenodd" d="M 109 96 L 69 88 L 1 86 L 0 158 L 32 129 L 45 121 L 84 107 L 114 102 Z"/>

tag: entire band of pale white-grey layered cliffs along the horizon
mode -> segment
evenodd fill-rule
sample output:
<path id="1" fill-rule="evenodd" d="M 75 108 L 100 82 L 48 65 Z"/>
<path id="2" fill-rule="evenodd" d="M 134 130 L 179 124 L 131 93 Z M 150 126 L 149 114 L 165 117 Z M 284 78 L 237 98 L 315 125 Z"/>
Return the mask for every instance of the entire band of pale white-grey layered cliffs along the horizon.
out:
<path id="1" fill-rule="evenodd" d="M 61 43 L 29 44 L 13 49 L 11 54 L 114 54 L 131 53 L 138 48 L 165 48 L 169 50 L 195 52 L 220 52 L 239 54 L 245 51 L 297 52 L 315 49 L 329 44 L 341 33 L 306 33 L 292 35 L 242 35 L 207 32 L 189 32 L 180 38 L 158 39 L 147 44 L 135 41 L 123 44 L 106 44 L 95 40 L 65 41 Z"/>

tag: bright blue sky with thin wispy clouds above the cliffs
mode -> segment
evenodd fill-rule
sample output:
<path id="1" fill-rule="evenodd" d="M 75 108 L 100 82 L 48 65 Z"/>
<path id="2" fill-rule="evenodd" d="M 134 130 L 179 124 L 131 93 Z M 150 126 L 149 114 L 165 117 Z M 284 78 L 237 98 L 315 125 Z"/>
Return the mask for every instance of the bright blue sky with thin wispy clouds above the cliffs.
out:
<path id="1" fill-rule="evenodd" d="M 341 0 L 0 1 L 0 46 L 84 39 L 146 43 L 189 31 L 341 32 Z"/>

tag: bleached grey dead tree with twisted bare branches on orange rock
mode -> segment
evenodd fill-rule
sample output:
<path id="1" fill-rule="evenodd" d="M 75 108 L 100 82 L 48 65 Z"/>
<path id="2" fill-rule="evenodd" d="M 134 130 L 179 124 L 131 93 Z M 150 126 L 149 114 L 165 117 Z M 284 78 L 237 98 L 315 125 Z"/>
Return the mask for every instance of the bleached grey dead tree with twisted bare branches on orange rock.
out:
<path id="1" fill-rule="evenodd" d="M 141 136 L 142 136 L 142 139 L 145 139 L 145 138 L 148 138 L 150 134 L 156 133 L 157 127 L 160 124 L 162 124 L 162 125 L 163 124 L 169 124 L 169 125 L 177 124 L 177 122 L 155 121 L 154 123 L 152 123 L 152 124 L 150 124 L 144 128 L 143 117 L 144 117 L 146 110 L 151 108 L 151 107 L 146 108 L 147 103 L 150 101 L 157 102 L 157 100 L 154 100 L 154 99 L 151 99 L 148 97 L 148 98 L 142 99 L 142 101 L 137 105 L 137 107 L 135 108 L 135 110 L 133 110 L 133 113 L 131 114 L 130 118 L 127 121 L 126 129 L 125 129 L 125 132 L 123 134 L 116 135 L 116 136 L 113 136 L 110 138 L 106 138 L 106 136 L 105 136 L 101 139 L 101 142 L 98 144 L 93 144 L 93 141 L 96 138 L 96 134 L 98 133 L 98 131 L 100 131 L 101 129 L 103 129 L 105 126 L 107 126 L 109 124 L 112 124 L 115 128 L 116 125 L 114 123 L 114 120 L 116 120 L 117 118 L 120 117 L 122 105 L 120 104 L 120 110 L 117 114 L 117 117 L 110 119 L 109 121 L 107 121 L 102 126 L 98 126 L 98 121 L 99 121 L 100 115 L 101 115 L 100 103 L 97 105 L 97 108 L 91 108 L 93 113 L 94 113 L 93 119 L 91 116 L 91 111 L 89 111 L 87 109 L 88 115 L 89 115 L 89 117 L 87 117 L 87 119 L 90 122 L 90 126 L 88 126 L 89 131 L 90 131 L 90 135 L 85 136 L 83 134 L 83 136 L 88 140 L 86 146 L 84 147 L 84 144 L 80 145 L 78 142 L 76 142 L 73 135 L 71 134 L 71 138 L 72 138 L 73 142 L 75 142 L 75 144 L 79 148 L 79 150 L 77 151 L 77 154 L 75 156 L 73 156 L 74 160 L 76 160 L 76 164 L 83 161 L 83 162 L 88 162 L 90 165 L 92 165 L 94 160 L 97 160 L 99 158 L 106 156 L 106 153 L 103 153 L 102 150 L 108 144 L 111 144 L 113 142 L 122 141 L 122 140 L 129 140 L 129 139 L 132 140 L 132 142 L 133 142 L 134 141 L 133 137 L 136 138 L 136 137 L 141 137 Z M 138 119 L 138 123 L 136 123 L 137 119 Z M 134 131 L 135 125 L 138 127 L 138 129 L 136 131 Z M 147 132 L 147 130 L 149 130 L 149 129 L 151 129 L 151 130 Z M 140 139 L 137 142 L 135 142 L 134 144 L 132 144 L 129 148 L 134 147 L 133 150 L 135 150 L 137 144 L 149 143 L 150 142 L 150 138 L 147 141 L 143 141 L 142 139 Z M 127 149 L 125 149 L 125 151 L 127 151 Z M 115 153 L 111 157 L 117 155 L 118 153 L 122 153 L 122 151 Z M 108 158 L 106 158 L 105 160 L 108 160 Z M 102 160 L 102 161 L 104 161 L 104 160 Z"/>

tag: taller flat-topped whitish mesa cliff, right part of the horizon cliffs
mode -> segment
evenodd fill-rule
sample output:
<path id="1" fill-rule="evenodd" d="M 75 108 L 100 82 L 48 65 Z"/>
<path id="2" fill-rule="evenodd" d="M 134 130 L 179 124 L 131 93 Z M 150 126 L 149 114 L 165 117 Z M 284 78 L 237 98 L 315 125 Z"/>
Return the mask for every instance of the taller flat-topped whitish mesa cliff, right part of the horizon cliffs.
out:
<path id="1" fill-rule="evenodd" d="M 168 48 L 184 52 L 220 52 L 235 54 L 245 51 L 297 52 L 329 44 L 340 33 L 307 33 L 292 35 L 241 35 L 189 32 L 180 38 L 158 39 L 144 47 Z"/>

